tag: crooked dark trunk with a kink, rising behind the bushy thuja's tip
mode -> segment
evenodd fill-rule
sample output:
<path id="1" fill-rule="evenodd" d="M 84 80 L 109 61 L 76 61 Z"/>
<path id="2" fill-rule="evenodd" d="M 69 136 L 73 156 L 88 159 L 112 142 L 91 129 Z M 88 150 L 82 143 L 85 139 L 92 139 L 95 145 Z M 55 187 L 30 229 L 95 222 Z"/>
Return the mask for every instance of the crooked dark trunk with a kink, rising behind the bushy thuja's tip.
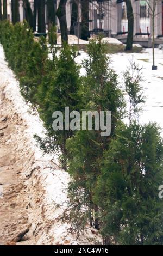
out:
<path id="1" fill-rule="evenodd" d="M 59 7 L 57 9 L 57 17 L 60 23 L 60 31 L 61 31 L 61 40 L 62 44 L 64 42 L 68 42 L 68 31 L 67 31 L 67 21 L 66 21 L 66 3 L 67 0 L 60 0 Z"/>

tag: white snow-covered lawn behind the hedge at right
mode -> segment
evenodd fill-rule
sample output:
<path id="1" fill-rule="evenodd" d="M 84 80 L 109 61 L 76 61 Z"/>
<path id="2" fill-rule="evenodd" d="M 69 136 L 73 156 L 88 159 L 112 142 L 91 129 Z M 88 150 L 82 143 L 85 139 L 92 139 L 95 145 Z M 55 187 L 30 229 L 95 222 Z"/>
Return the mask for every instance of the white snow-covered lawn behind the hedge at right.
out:
<path id="1" fill-rule="evenodd" d="M 120 84 L 123 84 L 122 74 L 129 65 L 129 61 L 134 58 L 135 62 L 142 67 L 144 82 L 143 89 L 146 96 L 146 103 L 140 115 L 142 124 L 149 121 L 158 123 L 163 128 L 163 50 L 155 49 L 155 65 L 158 70 L 152 70 L 152 49 L 145 49 L 142 53 L 116 53 L 111 54 L 112 68 L 119 74 Z M 87 54 L 81 51 L 78 62 L 82 63 Z M 82 69 L 81 74 L 85 71 Z M 163 131 L 162 131 L 163 136 Z"/>

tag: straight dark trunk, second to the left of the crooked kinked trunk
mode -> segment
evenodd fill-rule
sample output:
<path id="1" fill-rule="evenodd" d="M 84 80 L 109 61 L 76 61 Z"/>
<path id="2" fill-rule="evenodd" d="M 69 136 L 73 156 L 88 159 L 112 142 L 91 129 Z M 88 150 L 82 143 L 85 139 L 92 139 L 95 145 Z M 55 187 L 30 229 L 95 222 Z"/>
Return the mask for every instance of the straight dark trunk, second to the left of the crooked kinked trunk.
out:
<path id="1" fill-rule="evenodd" d="M 38 4 L 38 33 L 45 33 L 45 0 Z"/>

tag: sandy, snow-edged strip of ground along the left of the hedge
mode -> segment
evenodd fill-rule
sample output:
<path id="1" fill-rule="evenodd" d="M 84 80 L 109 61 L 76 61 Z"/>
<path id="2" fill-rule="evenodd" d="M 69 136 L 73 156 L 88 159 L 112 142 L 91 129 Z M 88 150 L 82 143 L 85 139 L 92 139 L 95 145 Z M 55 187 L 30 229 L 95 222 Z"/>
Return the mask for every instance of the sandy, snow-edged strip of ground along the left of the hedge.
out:
<path id="1" fill-rule="evenodd" d="M 7 115 L 0 140 L 0 244 L 80 245 L 100 240 L 92 228 L 78 236 L 68 221 L 62 223 L 70 177 L 37 147 L 33 136 L 43 136 L 42 122 L 24 102 L 1 45 L 0 89 L 1 128 L 1 118 Z"/>

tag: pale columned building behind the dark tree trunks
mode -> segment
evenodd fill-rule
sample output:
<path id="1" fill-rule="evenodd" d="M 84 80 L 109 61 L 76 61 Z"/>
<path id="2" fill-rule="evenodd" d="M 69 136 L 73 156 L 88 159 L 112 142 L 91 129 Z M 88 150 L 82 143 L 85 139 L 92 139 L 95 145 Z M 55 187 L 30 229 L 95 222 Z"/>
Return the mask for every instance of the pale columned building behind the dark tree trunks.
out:
<path id="1" fill-rule="evenodd" d="M 58 8 L 60 0 L 54 0 L 55 8 Z M 149 0 L 150 1 L 150 0 Z M 153 0 L 151 0 L 152 2 Z M 32 10 L 34 0 L 29 0 Z M 149 15 L 149 7 L 146 0 L 131 0 L 134 13 L 134 42 L 142 46 L 151 47 L 152 18 Z M 23 1 L 20 0 L 20 21 L 25 17 Z M 47 6 L 46 25 L 47 25 Z M 66 19 L 68 31 L 71 26 L 72 0 L 67 0 Z M 82 21 L 81 6 L 79 6 L 79 22 Z M 11 0 L 8 0 L 8 19 L 11 21 Z M 77 24 L 75 25 L 77 26 Z M 60 32 L 57 19 L 57 29 Z M 123 0 L 90 0 L 89 1 L 89 30 L 90 34 L 103 33 L 105 36 L 113 36 L 122 42 L 126 42 L 128 33 L 128 21 L 126 3 Z M 74 29 L 77 35 L 77 29 Z M 163 42 L 163 0 L 157 0 L 155 16 L 155 42 L 159 45 Z"/>

